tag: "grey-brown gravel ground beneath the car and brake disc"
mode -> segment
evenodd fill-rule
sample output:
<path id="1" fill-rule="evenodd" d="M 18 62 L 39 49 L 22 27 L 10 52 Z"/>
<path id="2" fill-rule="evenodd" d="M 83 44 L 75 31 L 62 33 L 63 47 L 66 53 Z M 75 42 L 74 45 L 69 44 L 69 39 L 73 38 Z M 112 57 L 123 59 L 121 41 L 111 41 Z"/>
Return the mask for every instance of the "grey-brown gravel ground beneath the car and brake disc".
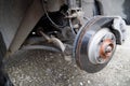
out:
<path id="1" fill-rule="evenodd" d="M 46 51 L 21 51 L 6 59 L 15 86 L 130 86 L 130 29 L 106 68 L 80 70 L 72 56 Z"/>

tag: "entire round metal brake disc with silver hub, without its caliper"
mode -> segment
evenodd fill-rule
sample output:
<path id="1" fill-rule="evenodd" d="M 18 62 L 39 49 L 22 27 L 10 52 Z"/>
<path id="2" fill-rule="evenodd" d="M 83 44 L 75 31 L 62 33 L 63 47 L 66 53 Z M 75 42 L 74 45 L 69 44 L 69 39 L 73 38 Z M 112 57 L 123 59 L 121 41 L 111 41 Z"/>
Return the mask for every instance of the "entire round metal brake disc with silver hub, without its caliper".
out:
<path id="1" fill-rule="evenodd" d="M 80 69 L 94 73 L 108 63 L 116 48 L 112 23 L 110 17 L 94 17 L 80 29 L 73 52 Z"/>

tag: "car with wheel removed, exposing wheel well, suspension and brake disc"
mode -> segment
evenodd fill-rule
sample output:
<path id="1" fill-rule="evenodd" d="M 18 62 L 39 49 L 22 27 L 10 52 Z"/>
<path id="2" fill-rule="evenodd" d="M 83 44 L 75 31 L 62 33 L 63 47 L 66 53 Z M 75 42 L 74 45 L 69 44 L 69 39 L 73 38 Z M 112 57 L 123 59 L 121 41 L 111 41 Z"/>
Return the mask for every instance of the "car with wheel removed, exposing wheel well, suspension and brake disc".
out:
<path id="1" fill-rule="evenodd" d="M 64 53 L 70 46 L 81 70 L 99 72 L 125 42 L 129 2 L 0 0 L 0 64 L 21 49 Z"/>

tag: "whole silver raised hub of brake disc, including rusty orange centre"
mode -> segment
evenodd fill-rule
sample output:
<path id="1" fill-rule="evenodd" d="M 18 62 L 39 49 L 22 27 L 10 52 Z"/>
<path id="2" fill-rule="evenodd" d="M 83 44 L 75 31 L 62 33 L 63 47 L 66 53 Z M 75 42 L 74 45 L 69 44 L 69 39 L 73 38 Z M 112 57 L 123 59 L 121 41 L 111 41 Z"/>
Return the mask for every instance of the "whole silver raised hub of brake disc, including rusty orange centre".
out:
<path id="1" fill-rule="evenodd" d="M 115 49 L 116 39 L 108 28 L 102 28 L 98 31 L 88 47 L 88 57 L 91 63 L 105 63 L 112 57 Z"/>

